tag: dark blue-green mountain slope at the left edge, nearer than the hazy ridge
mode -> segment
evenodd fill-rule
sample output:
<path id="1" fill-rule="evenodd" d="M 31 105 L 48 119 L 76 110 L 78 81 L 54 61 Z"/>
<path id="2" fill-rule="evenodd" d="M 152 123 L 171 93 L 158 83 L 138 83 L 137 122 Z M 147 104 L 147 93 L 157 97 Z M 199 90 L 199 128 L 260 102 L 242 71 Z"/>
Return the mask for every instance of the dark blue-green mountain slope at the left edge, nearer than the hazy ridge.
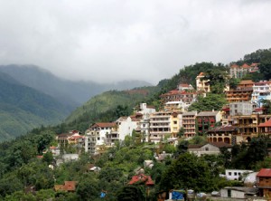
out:
<path id="1" fill-rule="evenodd" d="M 70 110 L 51 96 L 0 72 L 0 141 L 42 125 L 60 123 Z"/>

